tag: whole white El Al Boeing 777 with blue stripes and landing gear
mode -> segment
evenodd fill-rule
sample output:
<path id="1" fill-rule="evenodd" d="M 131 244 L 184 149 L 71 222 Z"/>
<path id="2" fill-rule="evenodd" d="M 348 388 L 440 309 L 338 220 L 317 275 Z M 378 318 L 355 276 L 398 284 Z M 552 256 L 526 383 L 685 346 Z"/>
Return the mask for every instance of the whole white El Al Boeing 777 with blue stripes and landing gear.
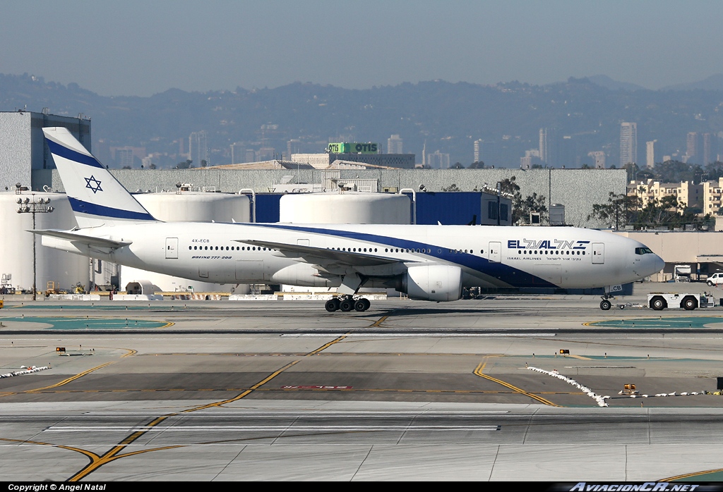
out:
<path id="1" fill-rule="evenodd" d="M 155 219 L 66 128 L 43 128 L 78 227 L 35 230 L 46 247 L 218 284 L 337 287 L 329 312 L 359 312 L 362 287 L 448 302 L 464 287 L 620 285 L 664 262 L 638 241 L 575 227 L 188 223 Z"/>

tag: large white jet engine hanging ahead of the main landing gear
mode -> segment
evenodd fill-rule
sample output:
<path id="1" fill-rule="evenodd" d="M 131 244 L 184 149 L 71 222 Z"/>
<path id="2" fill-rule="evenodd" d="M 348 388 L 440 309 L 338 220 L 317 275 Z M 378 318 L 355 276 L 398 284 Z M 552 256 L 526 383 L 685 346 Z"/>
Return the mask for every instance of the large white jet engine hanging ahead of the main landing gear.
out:
<path id="1" fill-rule="evenodd" d="M 397 290 L 419 301 L 456 301 L 462 297 L 462 269 L 452 265 L 413 266 Z"/>

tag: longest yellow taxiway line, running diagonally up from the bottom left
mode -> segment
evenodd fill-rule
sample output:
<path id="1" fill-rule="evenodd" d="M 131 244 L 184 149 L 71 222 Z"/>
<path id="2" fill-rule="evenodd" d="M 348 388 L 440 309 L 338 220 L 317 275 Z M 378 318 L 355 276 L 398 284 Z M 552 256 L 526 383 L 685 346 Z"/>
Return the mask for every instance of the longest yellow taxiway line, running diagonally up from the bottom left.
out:
<path id="1" fill-rule="evenodd" d="M 313 351 L 307 353 L 304 357 L 315 356 L 317 353 L 324 350 L 325 348 L 328 348 L 328 347 L 332 346 L 333 344 L 342 341 L 344 338 L 346 338 L 346 336 L 347 335 L 342 335 L 338 338 L 335 338 L 333 341 L 330 341 L 329 343 L 325 343 L 324 345 L 317 348 L 316 350 L 313 350 Z M 187 408 L 186 410 L 181 410 L 179 412 L 174 412 L 174 413 L 168 413 L 167 415 L 154 418 L 153 421 L 150 421 L 150 423 L 146 424 L 145 430 L 133 432 L 132 434 L 127 436 L 125 439 L 123 439 L 117 446 L 114 446 L 108 452 L 106 452 L 100 456 L 95 454 L 95 456 L 97 458 L 91 458 L 90 463 L 88 463 L 88 465 L 83 467 L 82 470 L 80 470 L 78 473 L 76 473 L 71 478 L 69 478 L 68 481 L 76 482 L 77 480 L 81 480 L 82 478 L 87 477 L 87 475 L 90 475 L 90 473 L 93 473 L 95 470 L 98 470 L 99 467 L 105 465 L 106 463 L 109 463 L 114 460 L 118 460 L 119 458 L 122 458 L 122 457 L 132 456 L 134 454 L 140 454 L 142 452 L 158 451 L 161 449 L 172 449 L 175 447 L 179 447 L 179 446 L 168 446 L 168 447 L 159 447 L 159 448 L 154 448 L 154 449 L 143 449 L 142 451 L 134 451 L 134 452 L 129 452 L 129 453 L 121 453 L 121 451 L 123 451 L 123 449 L 125 449 L 129 444 L 132 444 L 137 439 L 139 439 L 141 436 L 143 436 L 151 427 L 158 426 L 159 423 L 166 421 L 166 419 L 171 418 L 173 416 L 181 415 L 183 413 L 190 413 L 190 412 L 195 412 L 197 410 L 204 410 L 206 408 L 219 407 L 221 405 L 225 405 L 226 403 L 231 403 L 231 402 L 235 402 L 237 400 L 241 400 L 241 398 L 249 395 L 250 393 L 252 393 L 254 390 L 257 390 L 262 385 L 265 385 L 271 379 L 277 377 L 279 374 L 286 371 L 286 369 L 288 369 L 289 367 L 294 366 L 295 364 L 299 364 L 299 362 L 301 362 L 301 360 L 303 360 L 303 359 L 289 362 L 288 364 L 286 364 L 286 366 L 283 366 L 283 367 L 281 367 L 281 369 L 278 369 L 278 370 L 274 371 L 273 373 L 269 374 L 267 377 L 262 379 L 260 382 L 257 382 L 255 385 L 253 385 L 252 387 L 249 387 L 249 389 L 244 390 L 243 392 L 239 393 L 239 395 L 236 395 L 233 398 L 228 398 L 226 400 L 221 400 L 221 401 L 218 401 L 215 403 L 209 403 L 208 405 L 199 405 L 199 406 L 196 406 L 193 408 Z"/>

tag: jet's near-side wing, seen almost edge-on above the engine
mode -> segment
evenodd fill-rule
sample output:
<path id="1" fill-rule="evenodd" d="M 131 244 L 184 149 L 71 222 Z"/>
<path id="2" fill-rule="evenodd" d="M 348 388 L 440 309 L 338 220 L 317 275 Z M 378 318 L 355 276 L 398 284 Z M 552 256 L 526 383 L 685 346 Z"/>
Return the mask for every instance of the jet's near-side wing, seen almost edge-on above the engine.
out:
<path id="1" fill-rule="evenodd" d="M 303 258 L 307 263 L 315 263 L 318 265 L 375 266 L 401 263 L 398 258 L 387 258 L 385 256 L 375 255 L 374 253 L 329 250 L 323 247 L 288 245 L 283 242 L 258 240 L 236 240 L 236 242 L 279 250 L 287 257 Z M 408 263 L 408 260 L 406 263 Z"/>

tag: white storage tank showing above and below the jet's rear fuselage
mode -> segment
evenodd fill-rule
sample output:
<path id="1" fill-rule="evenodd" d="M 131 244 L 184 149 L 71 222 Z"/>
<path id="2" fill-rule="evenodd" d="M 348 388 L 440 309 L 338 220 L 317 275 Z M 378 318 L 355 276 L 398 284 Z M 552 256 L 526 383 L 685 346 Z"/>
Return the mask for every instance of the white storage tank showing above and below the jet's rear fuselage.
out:
<path id="1" fill-rule="evenodd" d="M 135 199 L 156 219 L 166 222 L 248 222 L 251 220 L 251 201 L 246 195 L 183 191 L 181 193 L 139 193 Z M 150 281 L 163 292 L 194 291 L 223 292 L 234 288 L 245 294 L 248 286 L 211 284 L 173 277 L 161 273 L 121 266 L 121 286 L 135 281 Z"/>

